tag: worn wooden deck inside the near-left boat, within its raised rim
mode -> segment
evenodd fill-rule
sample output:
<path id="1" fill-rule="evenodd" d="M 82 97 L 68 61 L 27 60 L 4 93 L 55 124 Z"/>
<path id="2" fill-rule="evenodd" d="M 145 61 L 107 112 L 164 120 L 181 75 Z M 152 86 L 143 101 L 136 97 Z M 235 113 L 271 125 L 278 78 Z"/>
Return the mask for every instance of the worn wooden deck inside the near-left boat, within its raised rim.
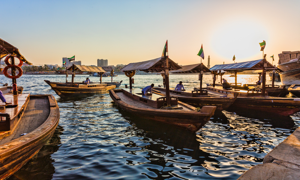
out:
<path id="1" fill-rule="evenodd" d="M 22 95 L 29 96 L 29 94 L 22 94 Z M 25 103 L 25 98 L 28 98 L 28 96 L 20 98 L 20 101 L 18 100 L 17 103 L 19 105 Z M 6 100 L 7 99 L 8 98 L 6 98 Z M 17 110 L 20 110 L 19 107 L 22 106 L 18 106 Z M 11 109 L 15 109 L 15 108 L 6 108 L 4 113 L 9 113 L 10 117 L 16 116 L 16 113 L 19 113 L 19 111 L 11 110 Z M 1 111 L 1 113 L 3 112 Z M 45 98 L 30 99 L 26 107 L 26 110 L 23 113 L 24 116 L 22 117 L 22 120 L 19 120 L 19 123 L 14 129 L 14 131 L 11 134 L 0 139 L 0 145 L 4 143 L 8 143 L 11 140 L 21 137 L 21 134 L 24 133 L 28 134 L 29 132 L 34 131 L 36 128 L 42 125 L 46 121 L 50 113 L 49 100 Z"/>

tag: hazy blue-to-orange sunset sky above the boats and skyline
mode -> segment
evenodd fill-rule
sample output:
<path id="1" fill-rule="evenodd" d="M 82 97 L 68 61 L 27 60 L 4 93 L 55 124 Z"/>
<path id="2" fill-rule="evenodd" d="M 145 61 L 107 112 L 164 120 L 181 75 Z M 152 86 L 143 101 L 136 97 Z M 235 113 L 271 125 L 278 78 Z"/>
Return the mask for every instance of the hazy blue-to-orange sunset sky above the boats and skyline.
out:
<path id="1" fill-rule="evenodd" d="M 161 56 L 180 65 L 262 58 L 277 65 L 282 51 L 300 50 L 300 1 L 95 0 L 0 1 L 0 38 L 33 64 L 62 64 L 75 55 L 82 65 L 129 64 Z M 272 62 L 271 62 L 272 63 Z"/>

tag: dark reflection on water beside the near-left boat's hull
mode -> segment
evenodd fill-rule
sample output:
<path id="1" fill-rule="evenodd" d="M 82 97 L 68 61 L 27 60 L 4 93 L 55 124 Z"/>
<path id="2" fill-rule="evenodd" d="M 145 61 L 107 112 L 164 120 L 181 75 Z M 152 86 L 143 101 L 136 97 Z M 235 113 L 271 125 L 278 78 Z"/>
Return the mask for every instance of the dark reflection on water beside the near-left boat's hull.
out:
<path id="1" fill-rule="evenodd" d="M 52 138 L 41 148 L 38 154 L 7 180 L 52 179 L 52 176 L 55 173 L 55 167 L 52 164 L 54 160 L 51 158 L 51 155 L 54 152 L 57 152 L 61 146 L 59 136 L 63 134 L 63 131 L 63 128 L 58 125 Z"/>

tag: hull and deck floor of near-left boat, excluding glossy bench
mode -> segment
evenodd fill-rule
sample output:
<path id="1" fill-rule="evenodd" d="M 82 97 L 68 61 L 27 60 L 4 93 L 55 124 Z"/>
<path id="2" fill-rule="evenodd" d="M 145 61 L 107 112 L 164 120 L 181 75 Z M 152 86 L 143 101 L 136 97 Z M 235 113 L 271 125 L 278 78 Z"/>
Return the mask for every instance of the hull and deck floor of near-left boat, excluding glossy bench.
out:
<path id="1" fill-rule="evenodd" d="M 52 95 L 30 95 L 29 98 L 15 131 L 1 139 L 0 180 L 11 176 L 38 153 L 58 125 L 59 109 Z M 20 133 L 27 134 L 19 137 Z"/>

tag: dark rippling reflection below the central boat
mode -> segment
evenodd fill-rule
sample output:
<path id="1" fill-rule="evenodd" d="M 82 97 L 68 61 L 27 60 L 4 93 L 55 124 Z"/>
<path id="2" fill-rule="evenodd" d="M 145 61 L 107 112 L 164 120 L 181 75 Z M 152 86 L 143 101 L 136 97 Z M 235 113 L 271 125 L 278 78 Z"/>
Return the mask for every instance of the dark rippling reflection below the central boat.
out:
<path id="1" fill-rule="evenodd" d="M 177 177 L 187 179 L 189 173 L 207 171 L 209 168 L 219 169 L 219 162 L 207 152 L 199 149 L 199 141 L 196 134 L 181 128 L 154 122 L 131 115 L 122 110 L 119 111 L 127 119 L 131 126 L 127 131 L 136 131 L 136 136 L 142 137 L 140 141 L 145 145 L 140 146 L 130 141 L 126 147 L 138 150 L 127 151 L 129 154 L 147 152 L 144 157 L 147 163 L 156 168 L 147 168 L 150 172 L 144 172 L 149 179 L 169 179 Z M 137 165 L 127 160 L 128 165 Z M 174 170 L 178 169 L 178 170 Z"/>

